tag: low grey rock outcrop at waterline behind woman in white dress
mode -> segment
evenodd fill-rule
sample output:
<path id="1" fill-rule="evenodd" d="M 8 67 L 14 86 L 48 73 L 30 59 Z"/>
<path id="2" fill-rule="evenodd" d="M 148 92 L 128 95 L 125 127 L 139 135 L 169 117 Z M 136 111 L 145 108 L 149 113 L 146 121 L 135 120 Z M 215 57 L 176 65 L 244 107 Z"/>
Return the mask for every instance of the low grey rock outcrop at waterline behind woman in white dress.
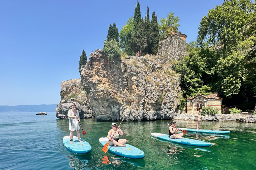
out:
<path id="1" fill-rule="evenodd" d="M 88 104 L 88 101 L 80 96 L 78 96 L 77 98 L 62 100 L 55 109 L 56 117 L 60 119 L 67 119 L 68 111 L 72 109 L 72 103 L 76 105 L 76 110 L 78 110 L 79 112 L 80 119 L 93 118 L 93 113 L 90 110 L 90 105 Z"/>

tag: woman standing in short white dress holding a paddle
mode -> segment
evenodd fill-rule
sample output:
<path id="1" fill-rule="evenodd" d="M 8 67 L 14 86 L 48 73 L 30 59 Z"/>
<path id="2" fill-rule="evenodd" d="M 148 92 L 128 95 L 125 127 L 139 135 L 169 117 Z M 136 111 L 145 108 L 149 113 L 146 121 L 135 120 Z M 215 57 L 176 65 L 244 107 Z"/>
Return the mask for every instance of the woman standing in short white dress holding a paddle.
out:
<path id="1" fill-rule="evenodd" d="M 79 117 L 79 113 L 76 110 L 76 105 L 73 103 L 71 105 L 71 108 L 68 111 L 68 119 L 69 119 L 69 125 L 68 128 L 70 130 L 70 143 L 73 144 L 73 132 L 74 130 L 76 130 L 76 134 L 78 137 L 79 142 L 83 142 L 82 140 L 80 140 L 80 132 L 79 132 L 79 122 L 80 122 L 80 117 Z"/>

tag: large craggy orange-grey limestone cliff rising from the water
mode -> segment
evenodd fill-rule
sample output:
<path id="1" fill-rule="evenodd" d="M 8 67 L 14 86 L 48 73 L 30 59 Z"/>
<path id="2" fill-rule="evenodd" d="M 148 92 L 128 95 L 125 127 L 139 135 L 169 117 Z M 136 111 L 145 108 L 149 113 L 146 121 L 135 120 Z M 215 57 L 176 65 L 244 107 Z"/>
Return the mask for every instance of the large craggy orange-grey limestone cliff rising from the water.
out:
<path id="1" fill-rule="evenodd" d="M 81 68 L 81 85 L 97 120 L 172 119 L 179 105 L 178 76 L 150 58 L 109 61 L 96 49 Z"/>

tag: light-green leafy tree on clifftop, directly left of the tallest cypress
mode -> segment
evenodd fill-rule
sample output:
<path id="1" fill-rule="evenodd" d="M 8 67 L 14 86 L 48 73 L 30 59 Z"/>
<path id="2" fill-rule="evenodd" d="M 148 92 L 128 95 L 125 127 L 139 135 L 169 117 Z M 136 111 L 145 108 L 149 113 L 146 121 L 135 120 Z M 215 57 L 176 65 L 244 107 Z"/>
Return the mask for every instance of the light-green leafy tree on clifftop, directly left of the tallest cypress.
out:
<path id="1" fill-rule="evenodd" d="M 122 27 L 119 33 L 120 37 L 120 47 L 127 55 L 132 55 L 132 49 L 130 45 L 130 40 L 133 31 L 133 17 L 129 18 L 126 25 Z"/>

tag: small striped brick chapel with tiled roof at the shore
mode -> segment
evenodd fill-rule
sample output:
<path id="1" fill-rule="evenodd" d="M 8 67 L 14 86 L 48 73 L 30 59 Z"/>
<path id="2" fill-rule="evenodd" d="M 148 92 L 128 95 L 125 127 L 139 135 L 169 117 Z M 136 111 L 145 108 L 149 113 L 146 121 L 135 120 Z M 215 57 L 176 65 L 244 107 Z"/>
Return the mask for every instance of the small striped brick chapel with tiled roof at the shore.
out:
<path id="1" fill-rule="evenodd" d="M 219 97 L 218 93 L 211 93 L 208 96 L 198 94 L 194 97 L 187 99 L 187 106 L 185 106 L 184 112 L 196 114 L 198 107 L 203 108 L 204 106 L 218 109 L 218 113 L 221 113 L 222 98 Z"/>

